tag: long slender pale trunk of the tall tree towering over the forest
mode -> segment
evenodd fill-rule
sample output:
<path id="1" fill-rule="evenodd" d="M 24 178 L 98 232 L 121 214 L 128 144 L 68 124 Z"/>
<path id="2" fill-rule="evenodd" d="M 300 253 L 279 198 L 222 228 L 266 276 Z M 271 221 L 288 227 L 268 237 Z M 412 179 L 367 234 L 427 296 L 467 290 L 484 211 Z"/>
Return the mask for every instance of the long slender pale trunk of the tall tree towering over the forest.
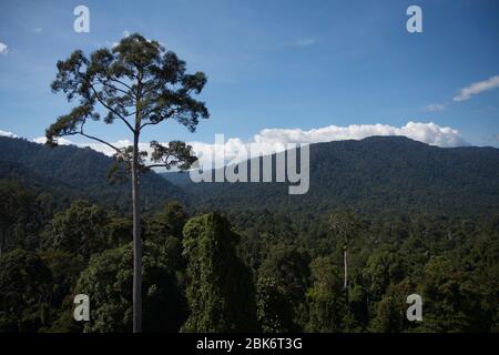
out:
<path id="1" fill-rule="evenodd" d="M 139 181 L 139 133 L 133 138 L 132 204 L 133 204 L 133 333 L 142 332 L 142 239 Z"/>

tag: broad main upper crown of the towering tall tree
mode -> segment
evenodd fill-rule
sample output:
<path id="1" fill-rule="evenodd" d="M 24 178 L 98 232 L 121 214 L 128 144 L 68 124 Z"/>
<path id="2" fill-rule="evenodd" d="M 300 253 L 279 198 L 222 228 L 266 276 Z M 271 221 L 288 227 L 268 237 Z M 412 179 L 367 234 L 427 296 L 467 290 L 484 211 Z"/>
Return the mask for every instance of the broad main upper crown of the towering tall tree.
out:
<path id="1" fill-rule="evenodd" d="M 194 131 L 200 118 L 210 116 L 204 102 L 192 98 L 203 90 L 206 75 L 186 74 L 185 62 L 174 52 L 139 33 L 90 58 L 77 50 L 57 67 L 53 92 L 64 92 L 69 101 L 79 99 L 80 106 L 48 130 L 49 144 L 58 136 L 82 133 L 84 118 L 99 118 L 99 109 L 106 112 L 105 123 L 120 119 L 135 134 L 167 119 Z"/>

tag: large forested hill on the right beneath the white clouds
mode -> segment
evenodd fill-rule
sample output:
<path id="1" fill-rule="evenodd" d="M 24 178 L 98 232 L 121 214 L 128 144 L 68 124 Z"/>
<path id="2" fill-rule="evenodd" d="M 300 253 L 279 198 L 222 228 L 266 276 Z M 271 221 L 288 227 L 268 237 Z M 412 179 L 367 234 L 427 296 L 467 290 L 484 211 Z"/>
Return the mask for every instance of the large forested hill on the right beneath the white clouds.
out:
<path id="1" fill-rule="evenodd" d="M 275 165 L 274 165 L 275 166 Z M 363 213 L 475 215 L 499 210 L 499 150 L 441 149 L 400 136 L 310 145 L 310 187 L 288 195 L 287 183 L 192 183 L 163 174 L 198 209 L 306 214 L 352 207 Z"/>

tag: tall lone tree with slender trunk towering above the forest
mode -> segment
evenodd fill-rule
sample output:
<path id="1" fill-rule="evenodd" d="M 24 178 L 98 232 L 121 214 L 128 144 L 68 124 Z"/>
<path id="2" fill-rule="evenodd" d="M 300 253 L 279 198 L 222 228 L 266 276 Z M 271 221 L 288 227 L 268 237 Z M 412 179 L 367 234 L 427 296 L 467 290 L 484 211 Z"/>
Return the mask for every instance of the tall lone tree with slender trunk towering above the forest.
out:
<path id="1" fill-rule="evenodd" d="M 195 131 L 200 118 L 207 119 L 204 102 L 193 99 L 205 83 L 202 72 L 187 74 L 185 62 L 172 51 L 166 51 L 157 41 L 134 33 L 123 38 L 112 49 L 100 49 L 85 57 L 74 51 L 64 61 L 59 61 L 58 74 L 52 82 L 54 92 L 62 91 L 69 101 L 79 99 L 79 104 L 69 114 L 60 116 L 47 130 L 47 143 L 57 145 L 58 138 L 81 135 L 115 151 L 120 166 L 125 168 L 132 180 L 133 212 L 133 331 L 142 328 L 142 240 L 140 211 L 140 173 L 151 168 L 191 168 L 195 162 L 192 148 L 181 141 L 162 145 L 152 141 L 151 163 L 147 153 L 139 149 L 140 136 L 146 126 L 174 120 Z M 101 115 L 101 111 L 105 115 Z M 88 121 L 108 124 L 119 121 L 133 136 L 133 144 L 119 148 L 85 131 Z"/>

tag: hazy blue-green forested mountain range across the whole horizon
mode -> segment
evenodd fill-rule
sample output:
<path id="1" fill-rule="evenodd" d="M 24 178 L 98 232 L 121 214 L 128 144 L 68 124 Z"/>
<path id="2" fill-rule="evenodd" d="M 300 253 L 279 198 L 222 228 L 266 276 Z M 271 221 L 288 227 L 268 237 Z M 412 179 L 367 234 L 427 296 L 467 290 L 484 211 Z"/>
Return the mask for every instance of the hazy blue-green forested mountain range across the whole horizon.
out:
<path id="1" fill-rule="evenodd" d="M 309 191 L 304 195 L 289 195 L 287 183 L 194 183 L 189 173 L 167 172 L 143 175 L 143 202 L 146 209 L 176 200 L 193 211 L 306 214 L 335 207 L 441 215 L 499 211 L 499 150 L 495 148 L 442 149 L 401 136 L 371 136 L 310 144 L 309 159 Z M 111 164 L 111 158 L 89 148 L 48 148 L 0 138 L 0 179 L 128 211 L 130 186 L 108 183 Z"/>

